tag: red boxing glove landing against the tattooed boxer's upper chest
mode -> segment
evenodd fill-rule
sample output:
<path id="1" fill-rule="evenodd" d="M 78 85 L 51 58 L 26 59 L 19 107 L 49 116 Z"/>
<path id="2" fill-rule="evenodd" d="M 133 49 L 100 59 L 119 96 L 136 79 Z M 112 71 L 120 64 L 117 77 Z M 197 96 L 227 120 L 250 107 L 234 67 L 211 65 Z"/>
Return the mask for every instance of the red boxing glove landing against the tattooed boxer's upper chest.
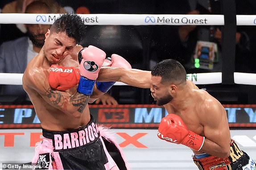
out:
<path id="1" fill-rule="evenodd" d="M 80 71 L 75 67 L 51 65 L 49 73 L 50 87 L 58 91 L 66 91 L 78 84 Z"/>

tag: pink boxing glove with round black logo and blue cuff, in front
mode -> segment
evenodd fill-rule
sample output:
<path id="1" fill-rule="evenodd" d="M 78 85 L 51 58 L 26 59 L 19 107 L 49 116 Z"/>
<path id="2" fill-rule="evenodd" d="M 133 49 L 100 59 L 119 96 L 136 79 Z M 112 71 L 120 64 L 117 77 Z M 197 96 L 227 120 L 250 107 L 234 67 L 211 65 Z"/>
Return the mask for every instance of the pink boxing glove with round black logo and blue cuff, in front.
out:
<path id="1" fill-rule="evenodd" d="M 78 53 L 78 63 L 80 69 L 80 80 L 77 91 L 84 95 L 91 95 L 94 84 L 99 75 L 106 53 L 92 45 L 83 48 Z"/>

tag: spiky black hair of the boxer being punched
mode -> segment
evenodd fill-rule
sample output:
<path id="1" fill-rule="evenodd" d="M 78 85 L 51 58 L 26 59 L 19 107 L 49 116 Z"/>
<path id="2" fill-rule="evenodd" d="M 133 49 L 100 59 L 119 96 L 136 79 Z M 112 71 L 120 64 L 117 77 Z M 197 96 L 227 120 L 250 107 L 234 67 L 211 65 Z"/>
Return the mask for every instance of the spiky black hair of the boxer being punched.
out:
<path id="1" fill-rule="evenodd" d="M 67 36 L 73 37 L 77 44 L 79 44 L 86 31 L 86 25 L 81 16 L 77 14 L 61 14 L 51 27 L 51 31 L 65 32 Z"/>

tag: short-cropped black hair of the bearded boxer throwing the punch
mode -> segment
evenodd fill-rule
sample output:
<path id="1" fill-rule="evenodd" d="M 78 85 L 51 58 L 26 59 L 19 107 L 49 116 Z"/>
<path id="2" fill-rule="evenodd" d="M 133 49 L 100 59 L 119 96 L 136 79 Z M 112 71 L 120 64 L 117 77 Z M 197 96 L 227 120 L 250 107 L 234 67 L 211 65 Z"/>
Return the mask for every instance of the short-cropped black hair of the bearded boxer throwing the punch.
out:
<path id="1" fill-rule="evenodd" d="M 161 83 L 186 83 L 186 70 L 180 62 L 174 59 L 165 59 L 157 63 L 151 75 L 161 77 Z"/>

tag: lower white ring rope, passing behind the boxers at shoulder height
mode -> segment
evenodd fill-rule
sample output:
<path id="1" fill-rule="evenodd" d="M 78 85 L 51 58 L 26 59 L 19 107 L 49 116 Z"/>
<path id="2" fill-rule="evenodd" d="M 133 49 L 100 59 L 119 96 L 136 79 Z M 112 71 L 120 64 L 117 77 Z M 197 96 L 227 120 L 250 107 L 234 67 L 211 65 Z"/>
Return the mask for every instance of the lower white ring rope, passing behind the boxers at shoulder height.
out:
<path id="1" fill-rule="evenodd" d="M 0 73 L 0 84 L 22 85 L 22 73 Z M 195 73 L 187 74 L 187 79 L 195 84 L 219 84 L 222 83 L 222 73 Z M 234 72 L 234 82 L 236 84 L 256 85 L 256 74 Z M 127 85 L 116 82 L 115 85 Z"/>

